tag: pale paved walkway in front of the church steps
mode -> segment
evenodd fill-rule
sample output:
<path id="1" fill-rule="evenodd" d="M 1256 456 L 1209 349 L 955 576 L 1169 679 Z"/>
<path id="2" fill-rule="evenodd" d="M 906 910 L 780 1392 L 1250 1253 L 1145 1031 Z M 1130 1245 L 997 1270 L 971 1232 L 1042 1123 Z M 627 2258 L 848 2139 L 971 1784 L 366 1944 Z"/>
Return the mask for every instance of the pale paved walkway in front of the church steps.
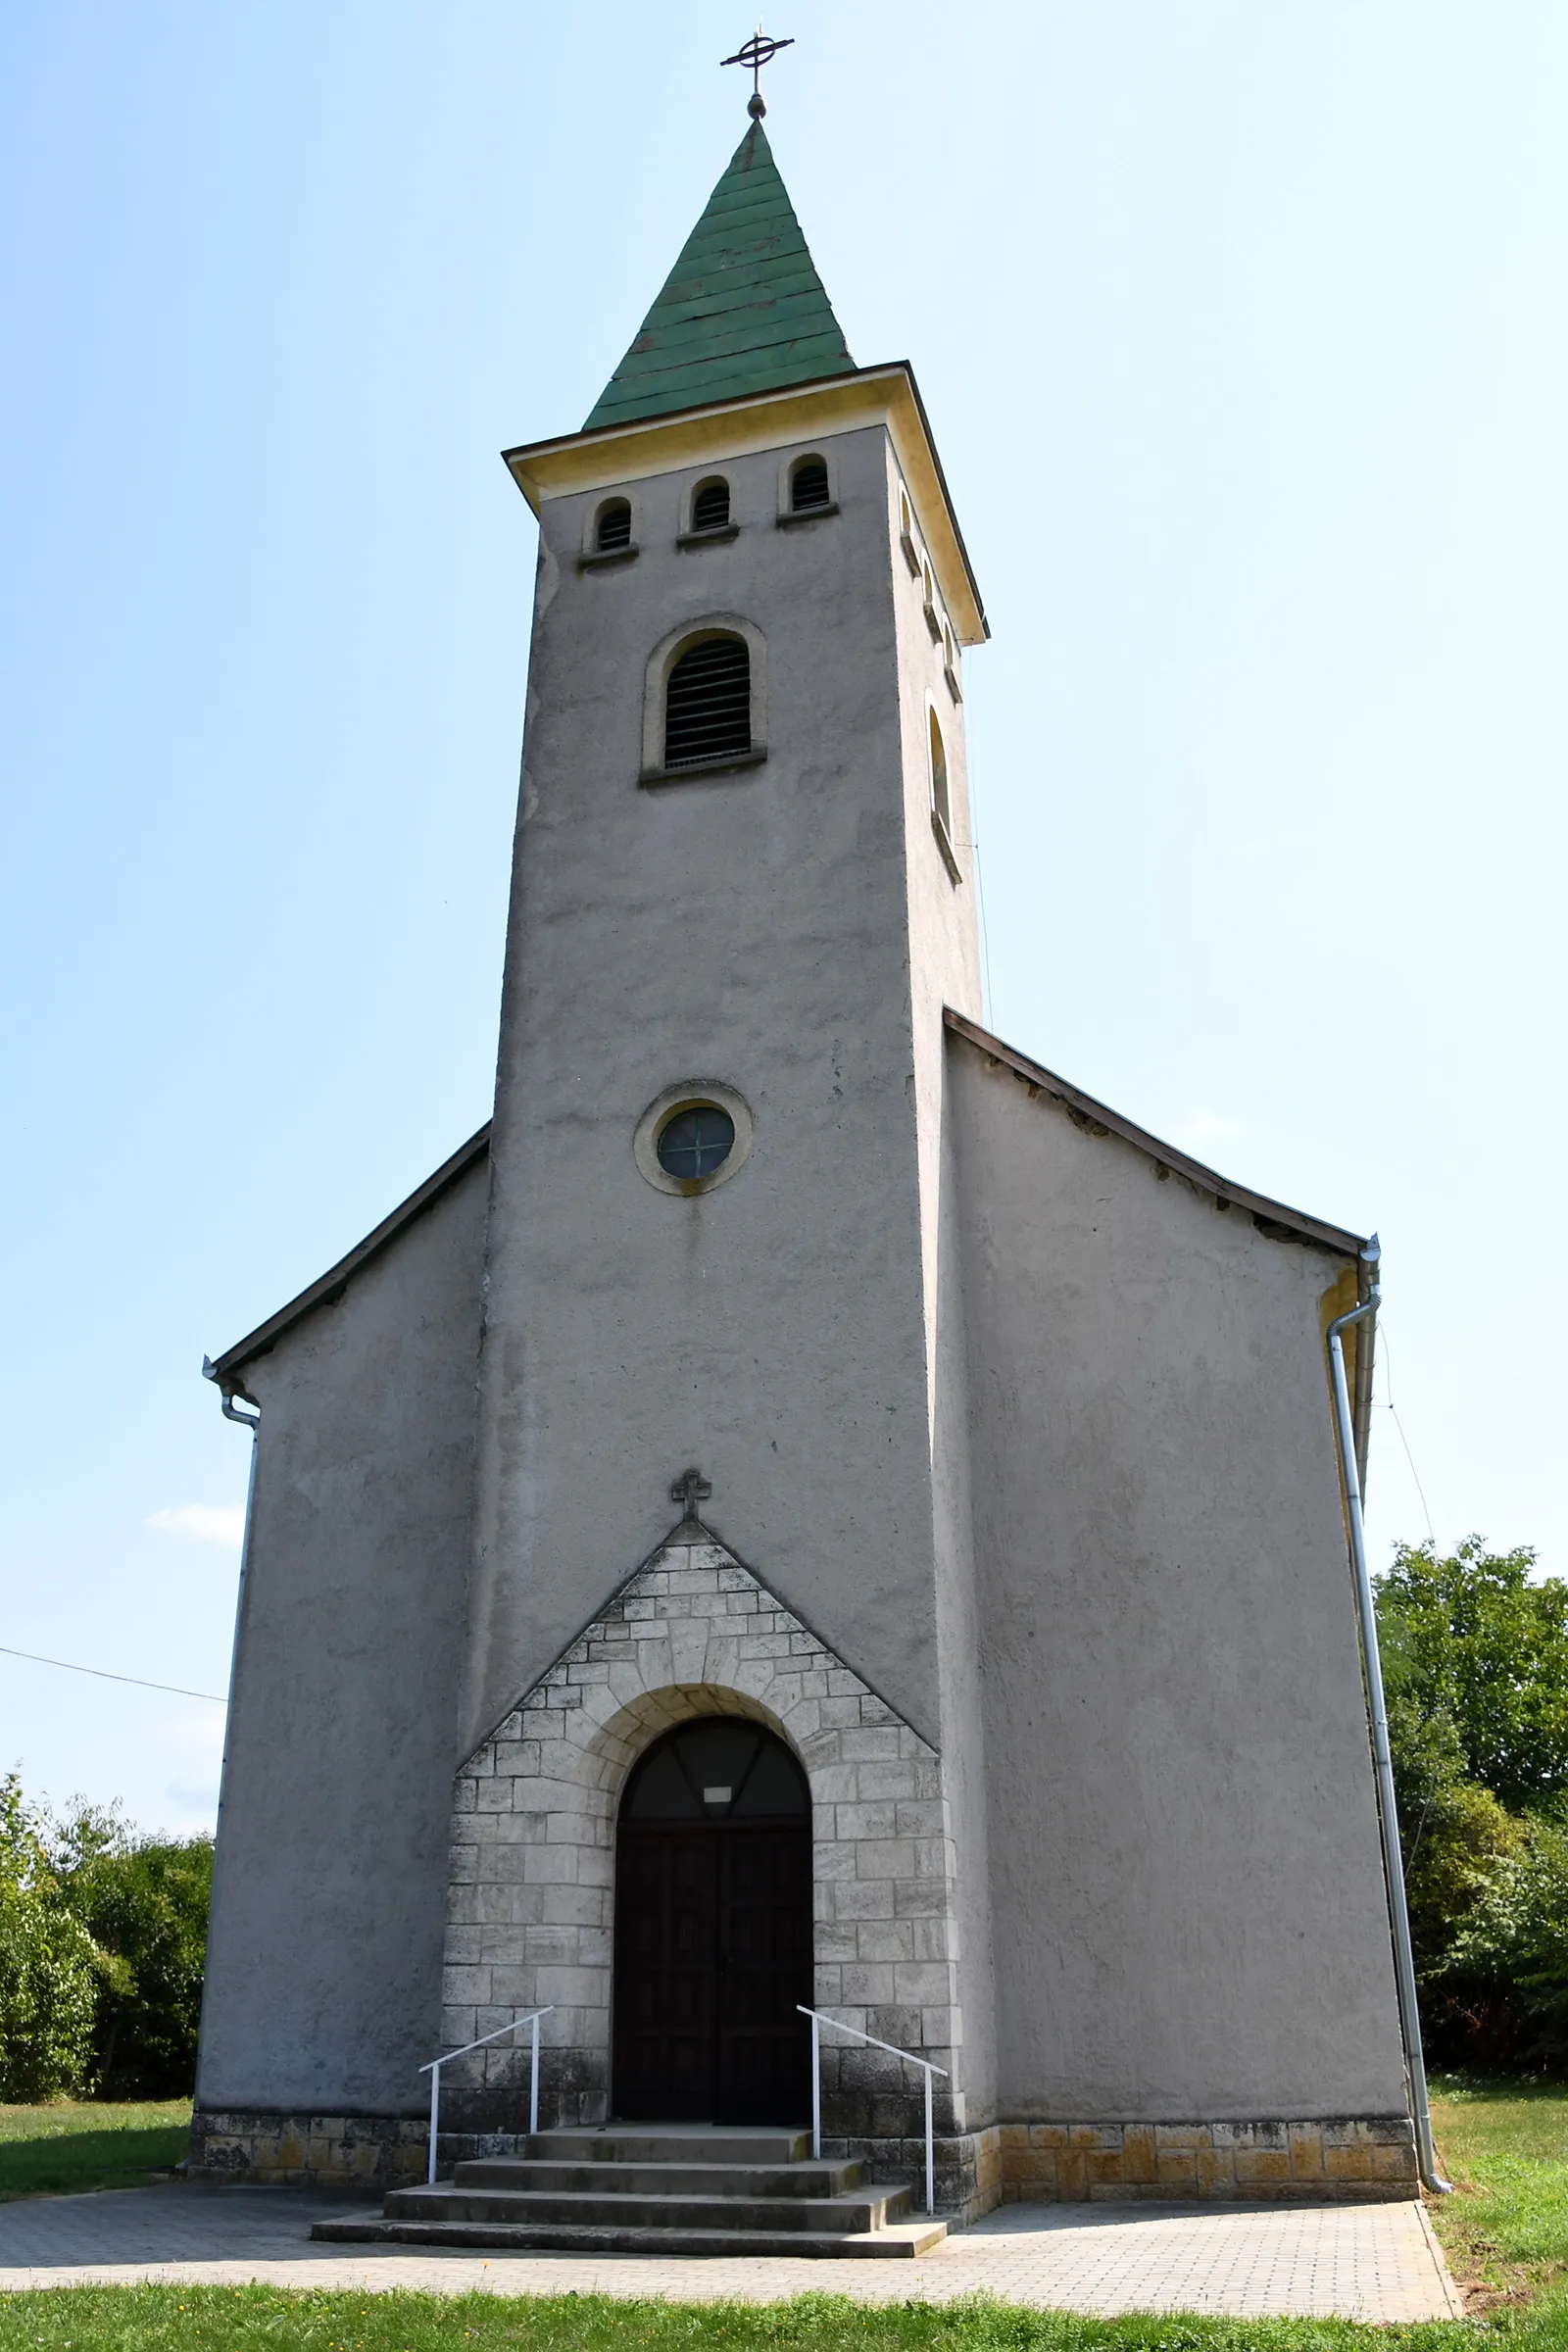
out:
<path id="1" fill-rule="evenodd" d="M 0 2204 L 0 2291 L 181 2279 L 268 2286 L 416 2286 L 550 2296 L 738 2298 L 806 2288 L 858 2303 L 992 2293 L 1072 2312 L 1462 2319 L 1418 2204 L 1373 2206 L 1001 2206 L 914 2263 L 792 2256 L 569 2256 L 381 2251 L 313 2244 L 343 2197 L 169 2185 Z"/>

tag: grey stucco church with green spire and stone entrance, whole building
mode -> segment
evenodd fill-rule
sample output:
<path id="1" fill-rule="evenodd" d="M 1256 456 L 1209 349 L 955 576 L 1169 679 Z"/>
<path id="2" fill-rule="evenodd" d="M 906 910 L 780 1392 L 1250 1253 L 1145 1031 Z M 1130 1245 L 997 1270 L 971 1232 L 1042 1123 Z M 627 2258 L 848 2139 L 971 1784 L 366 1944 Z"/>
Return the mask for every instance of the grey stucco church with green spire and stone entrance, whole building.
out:
<path id="1" fill-rule="evenodd" d="M 759 108 L 505 463 L 494 1120 L 209 1364 L 256 1435 L 197 2169 L 423 2180 L 421 2067 L 536 2009 L 541 2138 L 799 2133 L 816 2009 L 823 2161 L 917 2180 L 905 2051 L 954 2218 L 1415 2194 L 1363 1242 L 987 1033 L 980 590 Z M 538 2157 L 527 2044 L 447 2070 L 442 2171 Z"/>

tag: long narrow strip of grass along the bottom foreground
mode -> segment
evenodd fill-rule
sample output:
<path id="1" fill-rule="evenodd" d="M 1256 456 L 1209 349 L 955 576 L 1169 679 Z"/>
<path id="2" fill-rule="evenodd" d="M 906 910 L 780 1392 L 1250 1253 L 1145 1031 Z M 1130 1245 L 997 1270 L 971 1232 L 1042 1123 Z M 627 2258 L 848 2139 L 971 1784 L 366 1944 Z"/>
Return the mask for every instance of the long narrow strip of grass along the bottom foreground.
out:
<path id="1" fill-rule="evenodd" d="M 985 2300 L 875 2307 L 839 2296 L 764 2305 L 270 2286 L 0 2296 L 0 2352 L 1467 2352 L 1476 2338 L 1465 2321 L 1363 2328 L 1349 2319 L 1079 2319 Z M 1523 2352 L 1519 2331 L 1509 2340 Z"/>

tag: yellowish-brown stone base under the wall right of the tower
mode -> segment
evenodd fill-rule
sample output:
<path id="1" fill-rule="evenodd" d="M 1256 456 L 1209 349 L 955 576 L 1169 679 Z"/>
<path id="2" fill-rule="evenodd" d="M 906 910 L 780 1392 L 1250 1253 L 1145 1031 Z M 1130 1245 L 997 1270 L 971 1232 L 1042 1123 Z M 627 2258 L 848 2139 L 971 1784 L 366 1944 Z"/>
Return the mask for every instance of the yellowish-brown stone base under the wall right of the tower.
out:
<path id="1" fill-rule="evenodd" d="M 1305 2124 L 1001 2124 L 1001 2201 L 1420 2197 L 1403 2114 Z"/>

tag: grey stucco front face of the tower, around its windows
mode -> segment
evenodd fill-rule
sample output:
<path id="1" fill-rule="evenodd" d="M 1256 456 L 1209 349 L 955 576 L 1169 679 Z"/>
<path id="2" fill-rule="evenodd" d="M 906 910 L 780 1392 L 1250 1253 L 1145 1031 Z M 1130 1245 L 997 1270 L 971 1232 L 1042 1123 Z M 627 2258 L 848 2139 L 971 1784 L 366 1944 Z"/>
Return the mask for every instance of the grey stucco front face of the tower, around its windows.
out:
<path id="1" fill-rule="evenodd" d="M 578 564 L 599 494 L 543 510 L 470 1740 L 649 1555 L 684 1463 L 780 1599 L 940 1738 L 893 564 L 910 579 L 884 428 L 825 447 L 839 513 L 811 522 L 776 520 L 788 449 L 632 485 L 623 564 Z M 679 548 L 715 466 L 738 536 Z M 639 788 L 649 654 L 724 619 L 766 640 L 766 762 Z M 929 863 L 924 788 L 922 828 Z M 632 1131 L 686 1080 L 733 1087 L 755 1143 L 731 1183 L 675 1200 Z"/>

